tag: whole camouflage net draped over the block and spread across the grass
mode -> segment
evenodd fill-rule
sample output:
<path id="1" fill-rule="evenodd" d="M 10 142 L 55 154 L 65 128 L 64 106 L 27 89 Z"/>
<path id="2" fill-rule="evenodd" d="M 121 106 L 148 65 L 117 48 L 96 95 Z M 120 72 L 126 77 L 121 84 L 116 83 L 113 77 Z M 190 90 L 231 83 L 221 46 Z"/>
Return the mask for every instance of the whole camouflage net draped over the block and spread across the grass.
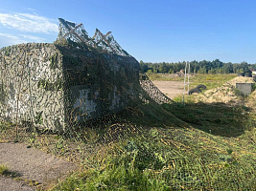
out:
<path id="1" fill-rule="evenodd" d="M 0 117 L 16 122 L 0 124 L 0 141 L 16 138 L 79 162 L 89 173 L 75 180 L 88 179 L 100 190 L 119 189 L 120 182 L 127 183 L 124 190 L 256 188 L 256 163 L 244 162 L 256 159 L 253 152 L 240 160 L 240 150 L 226 151 L 244 148 L 243 142 L 223 138 L 222 143 L 191 127 L 185 121 L 198 125 L 195 116 L 202 111 L 193 108 L 192 121 L 186 118 L 188 111 L 170 104 L 174 101 L 139 74 L 138 62 L 110 32 L 97 30 L 90 38 L 81 24 L 59 21 L 55 44 L 0 51 Z M 175 112 L 184 112 L 183 118 Z M 210 147 L 218 149 L 208 152 Z"/>

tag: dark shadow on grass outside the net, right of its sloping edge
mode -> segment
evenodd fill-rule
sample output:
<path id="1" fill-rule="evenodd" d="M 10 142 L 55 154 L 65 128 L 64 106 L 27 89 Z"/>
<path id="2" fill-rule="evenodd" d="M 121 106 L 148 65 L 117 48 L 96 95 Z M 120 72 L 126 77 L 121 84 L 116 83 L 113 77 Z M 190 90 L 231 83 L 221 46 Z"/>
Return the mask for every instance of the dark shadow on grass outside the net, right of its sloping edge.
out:
<path id="1" fill-rule="evenodd" d="M 246 115 L 250 109 L 242 106 L 194 103 L 185 106 L 163 105 L 163 107 L 194 128 L 215 136 L 236 138 L 244 134 L 244 130 L 254 127 L 250 122 L 251 118 Z"/>

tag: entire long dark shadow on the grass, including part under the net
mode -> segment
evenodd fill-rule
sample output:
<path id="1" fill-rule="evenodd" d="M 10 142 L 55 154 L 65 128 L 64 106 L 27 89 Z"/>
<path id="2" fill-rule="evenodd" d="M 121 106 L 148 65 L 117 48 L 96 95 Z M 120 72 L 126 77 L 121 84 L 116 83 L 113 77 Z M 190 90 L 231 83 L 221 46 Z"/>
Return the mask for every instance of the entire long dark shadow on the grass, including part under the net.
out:
<path id="1" fill-rule="evenodd" d="M 134 114 L 127 112 L 124 117 L 136 125 L 150 128 L 193 127 L 215 136 L 237 138 L 244 130 L 255 127 L 246 115 L 249 111 L 249 108 L 224 103 L 149 104 L 133 108 Z"/>

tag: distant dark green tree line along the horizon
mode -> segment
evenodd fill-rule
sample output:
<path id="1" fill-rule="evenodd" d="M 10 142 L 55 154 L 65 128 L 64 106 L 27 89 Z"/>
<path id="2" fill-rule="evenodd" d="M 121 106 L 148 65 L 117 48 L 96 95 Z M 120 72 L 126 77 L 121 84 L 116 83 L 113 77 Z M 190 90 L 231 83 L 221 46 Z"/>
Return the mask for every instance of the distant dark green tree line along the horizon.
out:
<path id="1" fill-rule="evenodd" d="M 143 73 L 151 71 L 152 73 L 169 73 L 175 74 L 176 72 L 185 69 L 186 62 L 143 62 L 140 61 L 140 70 Z M 191 61 L 190 62 L 190 73 L 194 74 L 239 74 L 239 73 L 251 73 L 256 71 L 256 64 L 248 64 L 247 62 L 231 63 L 221 62 L 219 59 L 213 61 Z"/>

